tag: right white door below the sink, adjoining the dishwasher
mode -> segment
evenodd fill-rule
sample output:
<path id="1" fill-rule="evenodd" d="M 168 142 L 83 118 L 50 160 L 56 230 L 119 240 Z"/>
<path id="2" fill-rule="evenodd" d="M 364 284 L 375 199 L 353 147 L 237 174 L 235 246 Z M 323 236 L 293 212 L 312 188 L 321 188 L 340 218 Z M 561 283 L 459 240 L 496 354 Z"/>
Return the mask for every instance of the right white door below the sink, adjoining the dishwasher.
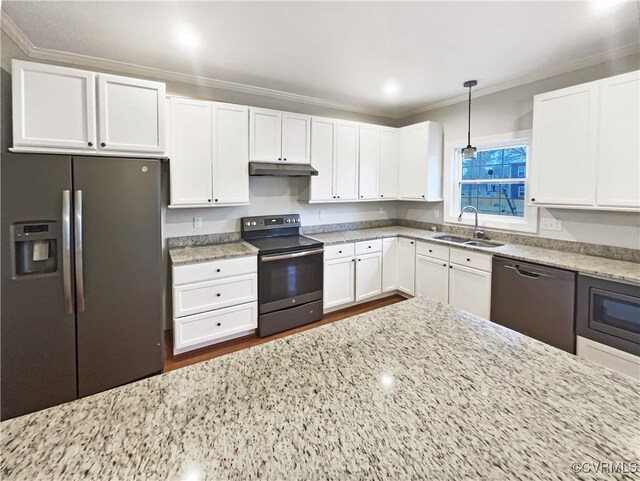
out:
<path id="1" fill-rule="evenodd" d="M 449 265 L 449 304 L 489 319 L 491 313 L 491 273 Z"/>

